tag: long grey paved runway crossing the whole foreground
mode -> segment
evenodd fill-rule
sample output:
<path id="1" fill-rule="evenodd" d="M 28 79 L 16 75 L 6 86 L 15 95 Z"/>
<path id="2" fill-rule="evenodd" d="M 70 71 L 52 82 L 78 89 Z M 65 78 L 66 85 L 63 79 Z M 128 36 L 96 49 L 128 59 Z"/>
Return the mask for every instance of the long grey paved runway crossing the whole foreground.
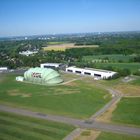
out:
<path id="1" fill-rule="evenodd" d="M 91 128 L 97 129 L 100 131 L 107 131 L 107 132 L 115 132 L 115 133 L 122 133 L 122 134 L 130 134 L 130 135 L 138 135 L 140 136 L 140 128 L 136 127 L 128 127 L 116 124 L 108 124 L 102 122 L 86 122 L 85 120 L 80 119 L 73 119 L 68 117 L 62 116 L 55 116 L 55 115 L 47 115 L 39 112 L 33 112 L 25 109 L 13 108 L 6 105 L 0 105 L 0 110 L 5 112 L 16 113 L 19 115 L 35 117 L 39 119 L 46 119 L 50 121 L 62 122 L 70 125 L 74 125 L 80 128 Z"/>

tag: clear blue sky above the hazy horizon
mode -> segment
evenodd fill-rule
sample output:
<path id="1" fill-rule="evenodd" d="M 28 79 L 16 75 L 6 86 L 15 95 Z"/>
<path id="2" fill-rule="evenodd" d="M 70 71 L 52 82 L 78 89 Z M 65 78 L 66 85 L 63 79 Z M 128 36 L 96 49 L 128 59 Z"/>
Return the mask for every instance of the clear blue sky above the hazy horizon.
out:
<path id="1" fill-rule="evenodd" d="M 140 0 L 0 0 L 0 37 L 140 31 Z"/>

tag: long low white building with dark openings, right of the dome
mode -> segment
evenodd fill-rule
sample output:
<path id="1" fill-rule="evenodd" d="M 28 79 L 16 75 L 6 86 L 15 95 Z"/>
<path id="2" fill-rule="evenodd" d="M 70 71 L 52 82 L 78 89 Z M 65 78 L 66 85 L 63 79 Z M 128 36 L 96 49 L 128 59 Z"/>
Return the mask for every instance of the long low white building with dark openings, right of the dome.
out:
<path id="1" fill-rule="evenodd" d="M 72 72 L 75 74 L 89 75 L 94 77 L 94 79 L 108 79 L 113 75 L 117 74 L 113 71 L 101 70 L 101 69 L 92 69 L 92 68 L 77 68 L 75 66 L 66 68 L 66 72 Z"/>

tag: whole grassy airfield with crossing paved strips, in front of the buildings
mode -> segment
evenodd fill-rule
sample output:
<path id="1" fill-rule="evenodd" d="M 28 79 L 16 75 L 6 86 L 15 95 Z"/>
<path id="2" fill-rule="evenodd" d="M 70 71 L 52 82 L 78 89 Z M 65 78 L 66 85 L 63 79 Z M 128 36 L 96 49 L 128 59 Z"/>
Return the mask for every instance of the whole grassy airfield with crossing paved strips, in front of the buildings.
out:
<path id="1" fill-rule="evenodd" d="M 139 77 L 96 81 L 88 76 L 61 73 L 61 85 L 41 86 L 17 82 L 17 75 L 0 75 L 1 136 L 140 139 Z M 29 115 L 32 113 L 35 115 Z"/>

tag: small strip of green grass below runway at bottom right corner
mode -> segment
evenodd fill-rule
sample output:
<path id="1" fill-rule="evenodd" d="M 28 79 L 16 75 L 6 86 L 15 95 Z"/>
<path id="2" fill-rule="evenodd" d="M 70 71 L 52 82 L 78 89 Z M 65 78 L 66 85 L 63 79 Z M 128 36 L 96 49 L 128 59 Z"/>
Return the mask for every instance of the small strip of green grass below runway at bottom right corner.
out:
<path id="1" fill-rule="evenodd" d="M 102 132 L 96 140 L 140 140 L 140 137 Z"/>

